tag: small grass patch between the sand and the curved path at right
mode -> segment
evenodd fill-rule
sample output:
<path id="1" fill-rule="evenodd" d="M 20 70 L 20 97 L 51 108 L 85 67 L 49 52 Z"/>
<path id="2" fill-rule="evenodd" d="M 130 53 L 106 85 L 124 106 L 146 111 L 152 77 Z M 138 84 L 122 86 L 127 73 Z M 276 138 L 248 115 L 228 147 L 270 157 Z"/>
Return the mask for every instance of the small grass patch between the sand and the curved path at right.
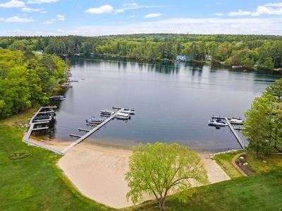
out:
<path id="1" fill-rule="evenodd" d="M 231 178 L 242 177 L 243 175 L 232 165 L 232 158 L 241 152 L 234 153 L 224 153 L 220 155 L 215 155 L 213 160 L 216 161 L 218 165 L 228 174 Z"/>

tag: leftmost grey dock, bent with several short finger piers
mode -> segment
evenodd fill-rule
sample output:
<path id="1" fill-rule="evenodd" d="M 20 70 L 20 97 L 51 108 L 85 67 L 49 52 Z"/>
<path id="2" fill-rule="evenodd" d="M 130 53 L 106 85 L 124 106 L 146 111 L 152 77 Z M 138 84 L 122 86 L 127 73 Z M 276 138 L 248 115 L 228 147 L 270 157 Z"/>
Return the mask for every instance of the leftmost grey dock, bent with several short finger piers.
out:
<path id="1" fill-rule="evenodd" d="M 39 146 L 41 148 L 47 149 L 48 151 L 51 151 L 51 152 L 56 153 L 58 155 L 63 155 L 63 153 L 61 153 L 60 151 L 57 151 L 54 148 L 51 148 L 49 146 L 45 146 L 43 143 L 39 143 L 37 141 L 30 139 L 30 135 L 31 135 L 32 131 L 39 130 L 39 129 L 48 129 L 47 126 L 46 127 L 38 127 L 38 126 L 35 127 L 35 125 L 37 125 L 37 124 L 48 124 L 49 119 L 42 120 L 41 122 L 33 122 L 35 120 L 35 117 L 37 117 L 37 115 L 39 115 L 39 114 L 54 113 L 54 110 L 53 110 L 54 108 L 56 108 L 56 106 L 41 107 L 37 110 L 35 115 L 33 115 L 30 118 L 30 122 L 29 122 L 30 127 L 28 128 L 27 132 L 25 133 L 25 136 L 23 136 L 23 141 L 25 141 L 26 143 L 30 143 L 32 145 Z"/>

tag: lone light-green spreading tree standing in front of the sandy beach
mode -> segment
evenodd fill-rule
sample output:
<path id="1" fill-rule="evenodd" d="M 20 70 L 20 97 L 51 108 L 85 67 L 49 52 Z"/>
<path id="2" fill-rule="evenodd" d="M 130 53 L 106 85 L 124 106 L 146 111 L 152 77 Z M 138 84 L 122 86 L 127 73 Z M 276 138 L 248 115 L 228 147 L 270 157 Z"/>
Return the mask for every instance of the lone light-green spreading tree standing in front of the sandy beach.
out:
<path id="1" fill-rule="evenodd" d="M 168 193 L 187 191 L 192 185 L 206 184 L 207 174 L 195 151 L 177 143 L 140 143 L 133 148 L 130 170 L 125 174 L 130 191 L 127 198 L 137 203 L 147 193 L 165 210 Z"/>

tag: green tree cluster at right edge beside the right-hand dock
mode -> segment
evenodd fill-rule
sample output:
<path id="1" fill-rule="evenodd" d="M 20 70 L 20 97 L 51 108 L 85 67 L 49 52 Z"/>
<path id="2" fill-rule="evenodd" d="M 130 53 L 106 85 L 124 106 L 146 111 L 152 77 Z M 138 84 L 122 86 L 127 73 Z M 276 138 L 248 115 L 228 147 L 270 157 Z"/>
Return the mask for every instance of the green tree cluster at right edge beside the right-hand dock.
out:
<path id="1" fill-rule="evenodd" d="M 281 94 L 282 79 L 278 79 L 245 113 L 243 134 L 249 139 L 247 150 L 256 157 L 282 150 Z"/>

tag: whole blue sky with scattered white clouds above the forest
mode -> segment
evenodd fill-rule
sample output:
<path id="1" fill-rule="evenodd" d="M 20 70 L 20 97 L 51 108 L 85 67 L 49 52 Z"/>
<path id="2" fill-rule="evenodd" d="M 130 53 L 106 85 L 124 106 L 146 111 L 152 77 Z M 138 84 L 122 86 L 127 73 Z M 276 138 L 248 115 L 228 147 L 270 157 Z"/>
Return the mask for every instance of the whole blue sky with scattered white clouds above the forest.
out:
<path id="1" fill-rule="evenodd" d="M 0 0 L 0 36 L 282 35 L 282 1 Z"/>

